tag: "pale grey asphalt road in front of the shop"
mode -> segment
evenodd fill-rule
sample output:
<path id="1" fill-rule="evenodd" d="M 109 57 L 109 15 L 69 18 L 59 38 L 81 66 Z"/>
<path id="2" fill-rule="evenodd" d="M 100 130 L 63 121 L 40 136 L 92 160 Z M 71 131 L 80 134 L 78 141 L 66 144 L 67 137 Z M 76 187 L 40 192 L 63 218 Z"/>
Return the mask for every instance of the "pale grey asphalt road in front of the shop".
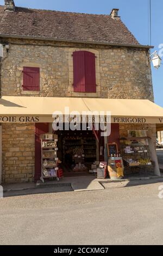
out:
<path id="1" fill-rule="evenodd" d="M 0 199 L 0 244 L 162 245 L 163 179 L 148 182 Z"/>

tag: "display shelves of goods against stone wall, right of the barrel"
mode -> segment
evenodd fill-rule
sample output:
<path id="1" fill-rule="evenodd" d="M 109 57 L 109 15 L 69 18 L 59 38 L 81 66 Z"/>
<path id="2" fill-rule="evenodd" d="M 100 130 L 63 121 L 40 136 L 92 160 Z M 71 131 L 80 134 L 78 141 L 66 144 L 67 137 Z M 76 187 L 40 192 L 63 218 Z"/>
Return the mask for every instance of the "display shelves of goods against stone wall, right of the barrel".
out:
<path id="1" fill-rule="evenodd" d="M 128 131 L 120 138 L 125 173 L 152 173 L 160 175 L 151 131 Z"/>

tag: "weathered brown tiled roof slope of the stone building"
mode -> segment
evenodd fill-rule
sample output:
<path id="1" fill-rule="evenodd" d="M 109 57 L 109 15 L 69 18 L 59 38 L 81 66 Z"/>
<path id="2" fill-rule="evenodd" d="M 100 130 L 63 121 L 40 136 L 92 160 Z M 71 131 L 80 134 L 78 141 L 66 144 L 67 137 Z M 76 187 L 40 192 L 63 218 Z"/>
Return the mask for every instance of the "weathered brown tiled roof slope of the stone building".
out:
<path id="1" fill-rule="evenodd" d="M 135 39 L 121 20 L 110 15 L 67 13 L 16 7 L 13 12 L 0 6 L 0 35 L 134 44 Z"/>

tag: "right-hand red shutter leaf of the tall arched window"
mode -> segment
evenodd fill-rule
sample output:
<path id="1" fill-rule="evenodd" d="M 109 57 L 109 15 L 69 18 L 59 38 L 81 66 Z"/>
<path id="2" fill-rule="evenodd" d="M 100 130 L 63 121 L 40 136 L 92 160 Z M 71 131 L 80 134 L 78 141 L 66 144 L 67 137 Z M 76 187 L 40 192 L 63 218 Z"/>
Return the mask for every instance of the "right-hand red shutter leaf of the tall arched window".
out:
<path id="1" fill-rule="evenodd" d="M 96 93 L 95 54 L 85 51 L 85 92 Z"/>

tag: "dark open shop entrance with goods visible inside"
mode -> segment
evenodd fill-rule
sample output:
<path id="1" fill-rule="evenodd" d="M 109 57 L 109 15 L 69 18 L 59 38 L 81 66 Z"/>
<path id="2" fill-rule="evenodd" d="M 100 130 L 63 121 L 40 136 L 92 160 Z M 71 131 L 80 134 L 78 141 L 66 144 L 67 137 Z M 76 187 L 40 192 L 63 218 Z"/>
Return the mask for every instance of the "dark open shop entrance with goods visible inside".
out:
<path id="1" fill-rule="evenodd" d="M 98 158 L 98 143 L 93 131 L 57 131 L 58 157 L 64 176 L 90 175 Z"/>

